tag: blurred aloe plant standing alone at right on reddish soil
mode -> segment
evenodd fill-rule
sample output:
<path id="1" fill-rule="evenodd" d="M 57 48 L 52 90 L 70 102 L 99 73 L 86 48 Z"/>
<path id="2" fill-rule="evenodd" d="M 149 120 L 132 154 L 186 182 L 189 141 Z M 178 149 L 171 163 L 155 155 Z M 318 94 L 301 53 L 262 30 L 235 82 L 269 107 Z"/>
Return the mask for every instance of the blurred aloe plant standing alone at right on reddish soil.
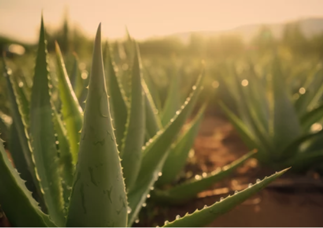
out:
<path id="1" fill-rule="evenodd" d="M 323 162 L 323 95 L 320 65 L 309 72 L 307 80 L 292 98 L 278 56 L 263 75 L 251 65 L 240 75 L 231 67 L 230 93 L 235 97 L 238 113 L 220 101 L 224 112 L 250 148 L 259 150 L 262 164 L 274 168 L 292 166 L 297 172 L 315 168 Z M 316 129 L 315 129 L 316 126 Z"/>

